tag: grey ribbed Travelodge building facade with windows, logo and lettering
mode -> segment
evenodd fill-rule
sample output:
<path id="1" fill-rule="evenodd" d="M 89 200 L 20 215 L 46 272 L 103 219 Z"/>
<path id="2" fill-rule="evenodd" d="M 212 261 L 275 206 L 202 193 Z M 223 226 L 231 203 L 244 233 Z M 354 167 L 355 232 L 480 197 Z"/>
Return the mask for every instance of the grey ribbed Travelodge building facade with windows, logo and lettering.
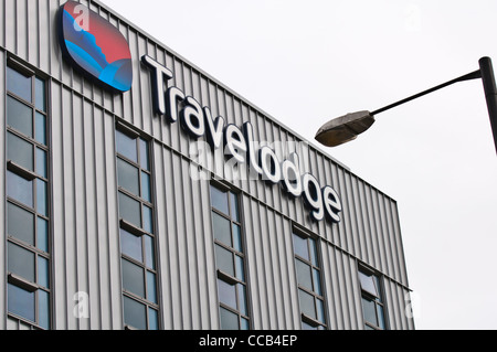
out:
<path id="1" fill-rule="evenodd" d="M 0 29 L 0 329 L 414 329 L 394 200 L 98 1 Z"/>

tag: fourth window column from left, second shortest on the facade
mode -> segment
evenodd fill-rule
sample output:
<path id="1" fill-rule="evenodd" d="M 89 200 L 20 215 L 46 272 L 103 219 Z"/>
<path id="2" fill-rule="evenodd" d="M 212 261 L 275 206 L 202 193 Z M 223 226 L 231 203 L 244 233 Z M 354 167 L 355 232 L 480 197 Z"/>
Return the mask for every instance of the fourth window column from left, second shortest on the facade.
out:
<path id="1" fill-rule="evenodd" d="M 302 328 L 327 329 L 317 241 L 295 232 L 293 236 Z"/>

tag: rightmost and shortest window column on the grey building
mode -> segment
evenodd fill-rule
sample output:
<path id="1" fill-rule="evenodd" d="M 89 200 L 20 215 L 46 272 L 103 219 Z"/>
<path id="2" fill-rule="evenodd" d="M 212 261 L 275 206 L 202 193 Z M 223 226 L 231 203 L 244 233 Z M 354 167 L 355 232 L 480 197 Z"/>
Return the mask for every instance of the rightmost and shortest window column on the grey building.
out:
<path id="1" fill-rule="evenodd" d="M 366 330 L 385 330 L 383 295 L 380 277 L 360 267 L 359 281 L 361 285 L 362 313 Z"/>

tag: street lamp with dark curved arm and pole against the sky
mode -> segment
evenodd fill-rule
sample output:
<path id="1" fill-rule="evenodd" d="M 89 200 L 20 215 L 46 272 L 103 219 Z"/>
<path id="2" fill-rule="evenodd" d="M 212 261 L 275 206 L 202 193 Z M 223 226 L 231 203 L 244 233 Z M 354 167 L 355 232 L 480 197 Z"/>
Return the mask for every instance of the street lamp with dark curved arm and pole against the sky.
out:
<path id="1" fill-rule="evenodd" d="M 456 82 L 463 82 L 468 79 L 482 78 L 483 86 L 485 90 L 485 97 L 487 100 L 488 115 L 490 117 L 491 130 L 494 134 L 494 143 L 497 151 L 497 87 L 495 83 L 494 70 L 491 66 L 490 57 L 482 57 L 479 61 L 479 70 L 472 72 L 467 75 L 457 77 L 455 79 L 448 81 L 436 87 L 430 88 L 427 90 L 421 92 L 409 98 L 399 100 L 385 107 L 382 107 L 372 113 L 363 110 L 352 114 L 347 114 L 341 117 L 337 117 L 328 122 L 326 122 L 316 134 L 316 140 L 326 147 L 337 147 L 350 140 L 353 140 L 368 130 L 374 124 L 374 116 L 391 109 L 401 104 L 408 103 L 415 98 L 419 98 L 429 93 L 444 88 Z"/>

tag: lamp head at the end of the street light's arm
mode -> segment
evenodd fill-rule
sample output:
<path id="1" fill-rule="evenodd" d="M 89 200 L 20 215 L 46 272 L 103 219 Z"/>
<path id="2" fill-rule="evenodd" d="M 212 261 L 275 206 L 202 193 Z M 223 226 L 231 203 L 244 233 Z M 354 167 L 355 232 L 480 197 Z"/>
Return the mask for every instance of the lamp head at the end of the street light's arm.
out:
<path id="1" fill-rule="evenodd" d="M 316 140 L 326 147 L 337 147 L 357 138 L 374 124 L 370 111 L 358 111 L 337 117 L 316 134 Z"/>

